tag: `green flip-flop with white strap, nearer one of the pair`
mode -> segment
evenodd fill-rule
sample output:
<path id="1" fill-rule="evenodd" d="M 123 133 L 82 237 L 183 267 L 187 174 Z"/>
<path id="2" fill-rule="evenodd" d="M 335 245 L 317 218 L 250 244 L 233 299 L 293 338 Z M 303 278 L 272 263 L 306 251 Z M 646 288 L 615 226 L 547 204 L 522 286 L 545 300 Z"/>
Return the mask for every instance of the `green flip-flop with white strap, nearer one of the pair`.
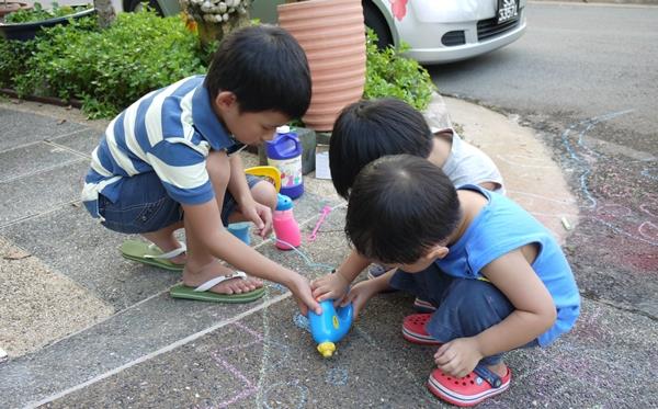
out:
<path id="1" fill-rule="evenodd" d="M 214 287 L 215 285 L 222 283 L 223 281 L 236 279 L 236 277 L 245 279 L 245 277 L 247 277 L 247 274 L 245 274 L 241 271 L 237 271 L 234 274 L 222 275 L 222 276 L 215 277 L 213 280 L 209 280 L 196 288 L 189 287 L 184 284 L 178 284 L 178 285 L 174 285 L 173 287 L 171 287 L 171 289 L 169 289 L 169 295 L 172 298 L 195 299 L 198 302 L 227 303 L 227 304 L 251 303 L 251 302 L 259 299 L 263 295 L 265 295 L 265 287 L 256 288 L 253 291 L 250 291 L 249 293 L 240 293 L 240 294 L 217 294 L 217 293 L 211 293 L 208 291 L 212 287 Z"/>

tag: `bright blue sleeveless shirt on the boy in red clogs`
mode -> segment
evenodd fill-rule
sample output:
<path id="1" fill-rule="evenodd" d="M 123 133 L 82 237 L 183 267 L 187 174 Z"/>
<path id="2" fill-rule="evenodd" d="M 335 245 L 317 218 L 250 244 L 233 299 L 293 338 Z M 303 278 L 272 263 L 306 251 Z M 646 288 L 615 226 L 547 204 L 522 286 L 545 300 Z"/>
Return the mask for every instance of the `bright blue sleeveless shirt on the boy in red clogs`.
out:
<path id="1" fill-rule="evenodd" d="M 538 220 L 510 198 L 476 185 L 464 185 L 486 196 L 489 203 L 473 219 L 464 235 L 452 246 L 439 268 L 455 277 L 483 279 L 484 266 L 529 243 L 538 247 L 532 263 L 557 309 L 553 327 L 537 339 L 545 346 L 571 329 L 580 314 L 580 295 L 571 268 L 557 241 Z"/>

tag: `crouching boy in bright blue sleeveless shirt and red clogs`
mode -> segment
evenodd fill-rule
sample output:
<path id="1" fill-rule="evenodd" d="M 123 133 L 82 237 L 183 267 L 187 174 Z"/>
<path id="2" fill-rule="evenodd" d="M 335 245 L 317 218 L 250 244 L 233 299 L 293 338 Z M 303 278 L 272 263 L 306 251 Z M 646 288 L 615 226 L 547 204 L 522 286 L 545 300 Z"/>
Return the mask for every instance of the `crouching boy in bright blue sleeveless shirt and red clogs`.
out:
<path id="1" fill-rule="evenodd" d="M 355 315 L 389 285 L 431 300 L 436 310 L 405 318 L 402 334 L 440 345 L 428 388 L 453 405 L 506 390 L 511 372 L 502 354 L 548 345 L 579 315 L 574 274 L 551 232 L 498 193 L 455 190 L 426 159 L 388 156 L 366 166 L 350 194 L 345 232 L 360 254 L 397 271 L 319 299 L 353 303 Z"/>

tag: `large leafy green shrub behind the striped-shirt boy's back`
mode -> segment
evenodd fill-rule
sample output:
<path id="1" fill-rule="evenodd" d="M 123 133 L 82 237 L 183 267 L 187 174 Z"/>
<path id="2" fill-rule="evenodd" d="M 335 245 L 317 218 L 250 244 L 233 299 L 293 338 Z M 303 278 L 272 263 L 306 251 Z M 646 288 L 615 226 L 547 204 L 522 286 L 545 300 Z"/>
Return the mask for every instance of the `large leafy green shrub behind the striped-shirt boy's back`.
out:
<path id="1" fill-rule="evenodd" d="M 151 90 L 205 72 L 206 57 L 178 16 L 121 13 L 104 31 L 80 19 L 45 30 L 14 87 L 21 95 L 80 99 L 90 117 L 112 117 Z"/>

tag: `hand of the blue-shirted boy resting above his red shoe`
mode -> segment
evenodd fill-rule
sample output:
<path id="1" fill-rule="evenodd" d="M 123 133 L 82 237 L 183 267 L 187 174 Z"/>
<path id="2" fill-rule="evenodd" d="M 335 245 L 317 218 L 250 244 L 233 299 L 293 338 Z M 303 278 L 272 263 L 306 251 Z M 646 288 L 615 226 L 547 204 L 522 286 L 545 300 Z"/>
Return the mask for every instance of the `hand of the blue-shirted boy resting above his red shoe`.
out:
<path id="1" fill-rule="evenodd" d="M 439 348 L 434 362 L 445 374 L 461 378 L 473 372 L 483 357 L 474 338 L 457 338 Z"/>

